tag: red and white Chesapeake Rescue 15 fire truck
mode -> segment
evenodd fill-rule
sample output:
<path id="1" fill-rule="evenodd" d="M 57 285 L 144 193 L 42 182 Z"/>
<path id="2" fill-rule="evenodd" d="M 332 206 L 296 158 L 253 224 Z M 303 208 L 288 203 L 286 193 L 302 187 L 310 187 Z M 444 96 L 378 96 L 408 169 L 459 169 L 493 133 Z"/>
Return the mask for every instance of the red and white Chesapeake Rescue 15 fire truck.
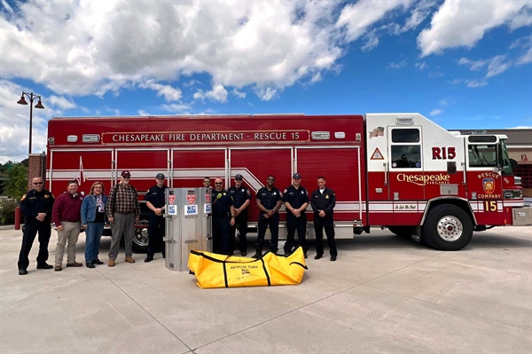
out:
<path id="1" fill-rule="evenodd" d="M 464 248 L 494 226 L 532 224 L 504 135 L 460 135 L 421 114 L 231 114 L 58 117 L 48 124 L 47 187 L 77 179 L 106 191 L 131 173 L 139 200 L 157 173 L 169 187 L 197 187 L 204 177 L 235 175 L 252 193 L 248 227 L 256 230 L 256 193 L 270 175 L 283 191 L 293 173 L 310 192 L 317 177 L 336 194 L 337 238 L 387 227 L 442 250 Z M 308 234 L 314 237 L 309 207 Z M 146 221 L 136 250 L 145 248 Z M 280 210 L 280 237 L 286 211 Z"/>

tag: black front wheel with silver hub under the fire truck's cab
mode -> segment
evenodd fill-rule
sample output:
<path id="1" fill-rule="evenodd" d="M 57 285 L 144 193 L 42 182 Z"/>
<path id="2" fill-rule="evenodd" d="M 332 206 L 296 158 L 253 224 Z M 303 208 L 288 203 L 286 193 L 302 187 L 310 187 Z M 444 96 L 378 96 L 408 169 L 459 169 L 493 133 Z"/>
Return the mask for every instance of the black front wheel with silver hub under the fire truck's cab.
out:
<path id="1" fill-rule="evenodd" d="M 440 205 L 432 209 L 423 225 L 426 244 L 442 251 L 465 248 L 473 237 L 473 222 L 462 208 Z"/>

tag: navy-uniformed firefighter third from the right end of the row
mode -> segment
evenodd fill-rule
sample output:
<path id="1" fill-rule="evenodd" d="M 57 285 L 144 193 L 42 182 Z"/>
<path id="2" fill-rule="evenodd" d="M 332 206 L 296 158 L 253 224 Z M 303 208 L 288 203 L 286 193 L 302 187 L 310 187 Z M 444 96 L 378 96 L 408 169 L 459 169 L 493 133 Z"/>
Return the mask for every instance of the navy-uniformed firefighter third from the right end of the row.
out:
<path id="1" fill-rule="evenodd" d="M 279 239 L 279 208 L 281 208 L 281 201 L 283 200 L 283 193 L 274 186 L 275 177 L 269 176 L 266 186 L 259 189 L 257 192 L 256 203 L 259 208 L 259 232 L 257 234 L 257 242 L 255 243 L 254 258 L 262 257 L 262 244 L 264 243 L 264 235 L 266 229 L 270 225 L 271 241 L 270 251 L 277 253 L 278 239 Z"/>

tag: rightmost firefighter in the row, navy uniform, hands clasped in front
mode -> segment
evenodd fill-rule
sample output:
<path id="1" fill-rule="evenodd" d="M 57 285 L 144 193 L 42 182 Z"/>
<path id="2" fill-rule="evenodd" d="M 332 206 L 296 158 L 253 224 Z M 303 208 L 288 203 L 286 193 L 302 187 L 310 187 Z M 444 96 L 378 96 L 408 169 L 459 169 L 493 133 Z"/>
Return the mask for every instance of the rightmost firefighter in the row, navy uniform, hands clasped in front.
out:
<path id="1" fill-rule="evenodd" d="M 331 188 L 325 186 L 325 177 L 317 177 L 317 190 L 310 197 L 310 205 L 314 210 L 314 232 L 316 232 L 316 256 L 320 259 L 324 256 L 324 230 L 329 244 L 331 262 L 336 261 L 338 252 L 336 241 L 334 240 L 334 222 L 332 220 L 332 209 L 336 205 L 336 195 Z"/>

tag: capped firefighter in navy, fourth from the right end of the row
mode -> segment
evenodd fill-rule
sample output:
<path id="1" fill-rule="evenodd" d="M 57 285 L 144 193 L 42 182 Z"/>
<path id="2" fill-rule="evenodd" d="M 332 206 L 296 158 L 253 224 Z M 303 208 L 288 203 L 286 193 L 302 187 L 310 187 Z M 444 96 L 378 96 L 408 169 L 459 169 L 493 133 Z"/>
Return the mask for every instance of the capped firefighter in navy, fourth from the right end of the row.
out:
<path id="1" fill-rule="evenodd" d="M 237 227 L 239 228 L 239 248 L 240 255 L 247 255 L 247 207 L 251 203 L 251 193 L 244 185 L 242 185 L 242 175 L 235 176 L 235 185 L 227 190 L 230 193 L 235 208 L 235 224 L 231 226 L 230 234 L 230 250 L 231 253 L 235 248 L 235 233 Z"/>

